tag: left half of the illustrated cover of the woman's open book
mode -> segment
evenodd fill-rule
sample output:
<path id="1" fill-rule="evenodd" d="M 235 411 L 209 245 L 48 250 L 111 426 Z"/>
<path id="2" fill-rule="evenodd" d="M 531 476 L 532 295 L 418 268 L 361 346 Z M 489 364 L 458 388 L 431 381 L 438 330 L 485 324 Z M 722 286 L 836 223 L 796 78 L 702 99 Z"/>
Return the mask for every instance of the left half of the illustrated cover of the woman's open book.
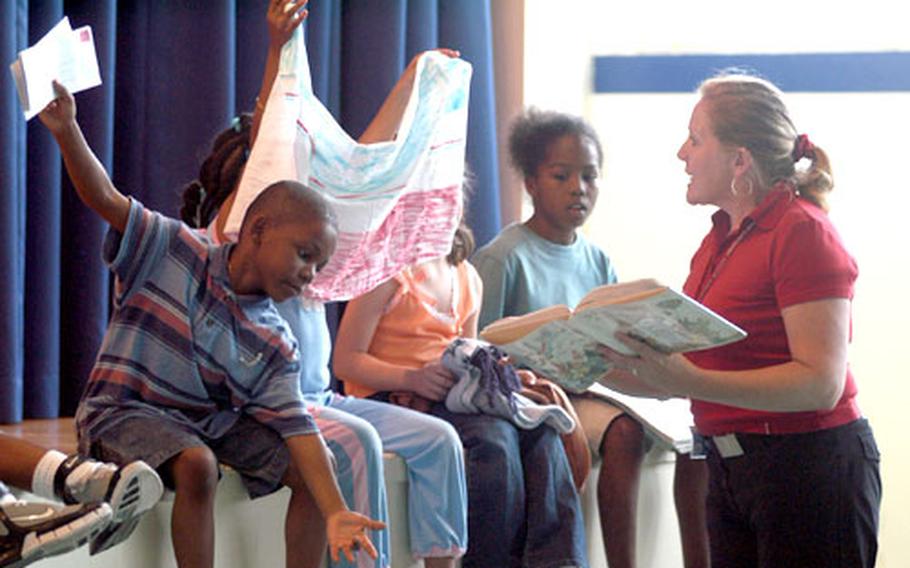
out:
<path id="1" fill-rule="evenodd" d="M 600 354 L 596 341 L 564 321 L 537 328 L 500 347 L 513 363 L 528 367 L 571 392 L 583 392 L 612 366 Z"/>

